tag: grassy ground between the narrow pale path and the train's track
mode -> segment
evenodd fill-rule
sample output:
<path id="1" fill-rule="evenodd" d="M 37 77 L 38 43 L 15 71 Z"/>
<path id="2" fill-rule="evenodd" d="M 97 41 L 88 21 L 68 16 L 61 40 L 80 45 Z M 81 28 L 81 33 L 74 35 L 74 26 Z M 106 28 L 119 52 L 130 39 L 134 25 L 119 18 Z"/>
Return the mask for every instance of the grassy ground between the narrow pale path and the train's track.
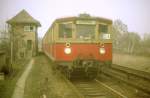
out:
<path id="1" fill-rule="evenodd" d="M 24 98 L 78 98 L 64 79 L 53 69 L 53 63 L 44 55 L 34 60 L 26 80 Z"/>

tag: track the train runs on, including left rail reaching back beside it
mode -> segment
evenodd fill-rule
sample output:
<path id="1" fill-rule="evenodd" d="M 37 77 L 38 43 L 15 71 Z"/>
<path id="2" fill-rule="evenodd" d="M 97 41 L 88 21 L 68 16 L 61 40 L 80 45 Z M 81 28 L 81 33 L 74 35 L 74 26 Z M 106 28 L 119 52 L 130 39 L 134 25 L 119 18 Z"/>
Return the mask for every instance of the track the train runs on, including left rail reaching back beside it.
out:
<path id="1" fill-rule="evenodd" d="M 78 98 L 129 98 L 99 80 L 89 80 L 87 78 L 68 80 L 64 75 L 60 75 Z"/>

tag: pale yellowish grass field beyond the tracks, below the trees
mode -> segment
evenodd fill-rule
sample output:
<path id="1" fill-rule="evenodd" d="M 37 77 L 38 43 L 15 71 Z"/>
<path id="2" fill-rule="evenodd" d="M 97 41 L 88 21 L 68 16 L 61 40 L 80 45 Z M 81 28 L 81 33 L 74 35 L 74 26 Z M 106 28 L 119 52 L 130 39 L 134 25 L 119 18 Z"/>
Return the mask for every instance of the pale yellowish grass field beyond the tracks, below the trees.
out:
<path id="1" fill-rule="evenodd" d="M 150 72 L 150 57 L 114 53 L 113 63 Z"/>

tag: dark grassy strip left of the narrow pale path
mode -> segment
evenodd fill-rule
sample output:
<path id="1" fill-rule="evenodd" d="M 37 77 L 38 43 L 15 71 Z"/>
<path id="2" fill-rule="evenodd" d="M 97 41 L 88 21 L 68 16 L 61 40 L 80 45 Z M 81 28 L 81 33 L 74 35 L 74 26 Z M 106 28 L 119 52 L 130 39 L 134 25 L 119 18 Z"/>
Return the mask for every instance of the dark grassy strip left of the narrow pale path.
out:
<path id="1" fill-rule="evenodd" d="M 13 71 L 5 76 L 4 81 L 0 81 L 0 98 L 11 98 L 16 82 L 29 60 L 20 60 L 13 64 Z"/>

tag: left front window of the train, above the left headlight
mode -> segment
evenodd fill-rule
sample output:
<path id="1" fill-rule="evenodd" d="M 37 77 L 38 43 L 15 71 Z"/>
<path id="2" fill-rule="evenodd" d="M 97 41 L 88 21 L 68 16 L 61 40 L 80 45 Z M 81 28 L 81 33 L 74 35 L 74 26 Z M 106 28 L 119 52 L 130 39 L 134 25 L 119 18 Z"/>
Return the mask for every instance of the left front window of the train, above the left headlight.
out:
<path id="1" fill-rule="evenodd" d="M 72 38 L 72 23 L 59 24 L 59 38 Z"/>

